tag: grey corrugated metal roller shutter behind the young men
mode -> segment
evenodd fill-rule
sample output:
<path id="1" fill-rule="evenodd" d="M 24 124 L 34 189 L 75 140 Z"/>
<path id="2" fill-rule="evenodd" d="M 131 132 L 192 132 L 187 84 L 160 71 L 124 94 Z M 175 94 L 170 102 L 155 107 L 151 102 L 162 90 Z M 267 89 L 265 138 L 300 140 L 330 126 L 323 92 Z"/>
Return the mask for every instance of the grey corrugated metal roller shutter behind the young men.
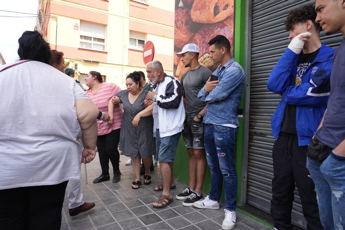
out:
<path id="1" fill-rule="evenodd" d="M 281 100 L 266 89 L 269 74 L 287 48 L 289 32 L 284 21 L 287 13 L 310 0 L 254 0 L 252 12 L 252 52 L 250 69 L 250 108 L 248 136 L 247 203 L 269 213 L 272 199 L 273 162 L 271 118 Z M 341 34 L 326 36 L 321 41 L 336 49 L 343 40 Z M 303 229 L 306 221 L 295 190 L 293 223 Z"/>

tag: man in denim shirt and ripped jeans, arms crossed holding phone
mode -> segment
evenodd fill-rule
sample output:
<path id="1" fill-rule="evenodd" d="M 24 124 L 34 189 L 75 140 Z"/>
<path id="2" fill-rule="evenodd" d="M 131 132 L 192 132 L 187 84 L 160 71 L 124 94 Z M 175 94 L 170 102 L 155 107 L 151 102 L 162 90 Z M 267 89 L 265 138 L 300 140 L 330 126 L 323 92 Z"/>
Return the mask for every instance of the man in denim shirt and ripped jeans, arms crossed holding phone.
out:
<path id="1" fill-rule="evenodd" d="M 230 230 L 236 222 L 237 173 L 235 167 L 235 143 L 238 131 L 237 110 L 244 87 L 244 70 L 232 58 L 229 40 L 218 35 L 208 42 L 210 57 L 221 63 L 213 72 L 217 81 L 208 79 L 198 98 L 208 103 L 205 123 L 205 150 L 211 172 L 211 191 L 194 207 L 219 209 L 219 199 L 225 182 L 225 219 L 222 228 Z"/>

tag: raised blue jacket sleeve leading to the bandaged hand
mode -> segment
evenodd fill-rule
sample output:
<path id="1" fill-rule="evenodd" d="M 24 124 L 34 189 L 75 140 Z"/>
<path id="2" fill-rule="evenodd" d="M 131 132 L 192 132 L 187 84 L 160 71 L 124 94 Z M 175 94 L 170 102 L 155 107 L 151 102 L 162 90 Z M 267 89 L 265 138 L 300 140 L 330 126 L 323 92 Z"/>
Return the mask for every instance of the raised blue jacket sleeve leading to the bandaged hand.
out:
<path id="1" fill-rule="evenodd" d="M 296 68 L 296 61 L 298 60 L 299 54 L 294 53 L 292 50 L 287 48 L 282 57 L 269 74 L 267 89 L 271 92 L 283 94 L 286 87 L 289 86 L 289 77 L 293 73 L 293 68 Z"/>

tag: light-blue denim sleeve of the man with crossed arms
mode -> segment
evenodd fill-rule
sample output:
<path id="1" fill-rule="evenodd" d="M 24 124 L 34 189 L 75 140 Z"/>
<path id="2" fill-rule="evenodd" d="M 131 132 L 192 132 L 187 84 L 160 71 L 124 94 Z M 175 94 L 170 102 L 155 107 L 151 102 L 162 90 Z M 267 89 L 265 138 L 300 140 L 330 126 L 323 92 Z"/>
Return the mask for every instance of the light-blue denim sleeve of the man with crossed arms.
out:
<path id="1" fill-rule="evenodd" d="M 244 81 L 243 69 L 235 66 L 230 67 L 225 70 L 223 78 L 219 81 L 216 88 L 214 88 L 210 93 L 206 93 L 204 87 L 200 90 L 198 98 L 206 103 L 214 103 L 221 101 L 242 82 Z M 200 95 L 201 93 L 201 95 Z M 199 97 L 199 95 L 201 97 Z"/>

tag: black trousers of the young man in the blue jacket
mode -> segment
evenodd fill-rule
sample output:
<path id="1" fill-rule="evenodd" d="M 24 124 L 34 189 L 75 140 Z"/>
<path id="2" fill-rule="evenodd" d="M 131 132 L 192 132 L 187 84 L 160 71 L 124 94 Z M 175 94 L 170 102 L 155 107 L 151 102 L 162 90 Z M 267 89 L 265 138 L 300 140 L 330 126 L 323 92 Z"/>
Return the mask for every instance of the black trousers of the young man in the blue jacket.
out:
<path id="1" fill-rule="evenodd" d="M 273 150 L 271 215 L 278 230 L 292 230 L 291 212 L 295 183 L 302 203 L 307 230 L 323 230 L 314 191 L 307 170 L 307 146 L 298 146 L 296 135 L 280 132 Z"/>

